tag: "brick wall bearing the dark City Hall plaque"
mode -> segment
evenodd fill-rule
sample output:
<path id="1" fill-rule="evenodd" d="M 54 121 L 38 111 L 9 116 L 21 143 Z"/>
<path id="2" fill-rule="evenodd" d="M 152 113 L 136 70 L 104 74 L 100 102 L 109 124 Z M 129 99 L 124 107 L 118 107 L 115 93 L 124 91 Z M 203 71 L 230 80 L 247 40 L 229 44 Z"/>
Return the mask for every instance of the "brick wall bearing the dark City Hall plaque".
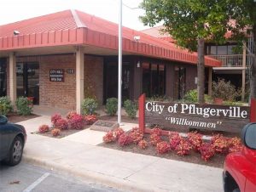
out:
<path id="1" fill-rule="evenodd" d="M 39 104 L 75 110 L 76 76 L 67 74 L 75 70 L 75 54 L 59 54 L 17 58 L 18 62 L 39 63 Z M 64 70 L 64 82 L 49 82 L 49 70 Z"/>

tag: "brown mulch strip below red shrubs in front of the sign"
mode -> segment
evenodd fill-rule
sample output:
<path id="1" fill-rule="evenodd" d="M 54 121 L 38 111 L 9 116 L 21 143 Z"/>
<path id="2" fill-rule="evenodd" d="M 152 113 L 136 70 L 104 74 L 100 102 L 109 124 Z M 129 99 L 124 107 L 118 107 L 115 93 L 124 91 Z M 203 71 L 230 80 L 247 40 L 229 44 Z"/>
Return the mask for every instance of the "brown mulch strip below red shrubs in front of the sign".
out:
<path id="1" fill-rule="evenodd" d="M 161 137 L 162 137 L 162 140 L 168 141 L 167 137 L 165 136 L 161 136 Z M 149 134 L 145 134 L 144 138 L 145 140 L 149 141 Z M 190 150 L 189 155 L 185 155 L 185 156 L 177 155 L 176 152 L 173 150 L 166 154 L 160 155 L 155 150 L 155 147 L 152 146 L 151 144 L 148 144 L 148 148 L 146 150 L 141 150 L 136 144 L 130 144 L 130 145 L 121 147 L 117 143 L 108 143 L 108 144 L 102 143 L 102 144 L 99 144 L 99 146 L 110 148 L 113 150 L 122 150 L 126 152 L 137 153 L 137 154 L 157 156 L 157 157 L 162 157 L 162 158 L 176 160 L 176 161 L 185 161 L 185 162 L 190 162 L 190 163 L 195 163 L 200 165 L 206 165 L 210 167 L 222 168 L 224 166 L 224 159 L 225 159 L 225 155 L 216 154 L 210 159 L 210 161 L 204 161 L 201 159 L 201 155 L 199 153 L 196 153 L 194 150 Z"/>

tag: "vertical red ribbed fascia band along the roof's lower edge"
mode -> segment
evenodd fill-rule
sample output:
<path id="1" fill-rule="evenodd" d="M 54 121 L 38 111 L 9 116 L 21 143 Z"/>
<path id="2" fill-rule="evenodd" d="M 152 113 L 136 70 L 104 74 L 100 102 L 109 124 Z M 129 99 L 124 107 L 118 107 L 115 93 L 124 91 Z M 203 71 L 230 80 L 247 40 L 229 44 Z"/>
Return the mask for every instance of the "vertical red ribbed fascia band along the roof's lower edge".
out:
<path id="1" fill-rule="evenodd" d="M 31 48 L 50 50 L 54 49 L 53 47 L 62 50 L 65 49 L 62 48 L 63 46 L 67 46 L 67 49 L 74 46 L 90 46 L 90 48 L 95 48 L 95 54 L 100 54 L 97 51 L 106 51 L 107 49 L 108 52 L 116 53 L 118 50 L 118 37 L 99 31 L 92 31 L 86 27 L 14 37 L 0 37 L 0 51 L 3 52 L 15 51 L 22 53 L 29 51 Z M 49 50 L 46 50 L 46 52 L 49 52 Z M 197 54 L 195 53 L 189 53 L 171 46 L 170 48 L 161 48 L 160 46 L 136 42 L 127 38 L 123 38 L 123 52 L 125 54 L 137 54 L 188 64 L 197 64 Z M 52 52 L 52 54 L 54 53 Z M 221 66 L 221 62 L 216 59 L 206 57 L 205 61 L 207 66 Z"/>

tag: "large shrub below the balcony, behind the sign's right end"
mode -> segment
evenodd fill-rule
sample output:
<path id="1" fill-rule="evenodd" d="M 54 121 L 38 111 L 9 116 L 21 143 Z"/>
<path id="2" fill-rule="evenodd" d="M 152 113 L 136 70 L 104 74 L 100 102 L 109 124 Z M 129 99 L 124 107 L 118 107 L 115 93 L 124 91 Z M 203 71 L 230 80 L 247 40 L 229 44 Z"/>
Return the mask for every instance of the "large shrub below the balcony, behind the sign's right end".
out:
<path id="1" fill-rule="evenodd" d="M 212 98 L 220 98 L 233 101 L 237 97 L 236 88 L 231 82 L 225 82 L 224 79 L 218 79 L 218 82 L 212 82 Z"/>

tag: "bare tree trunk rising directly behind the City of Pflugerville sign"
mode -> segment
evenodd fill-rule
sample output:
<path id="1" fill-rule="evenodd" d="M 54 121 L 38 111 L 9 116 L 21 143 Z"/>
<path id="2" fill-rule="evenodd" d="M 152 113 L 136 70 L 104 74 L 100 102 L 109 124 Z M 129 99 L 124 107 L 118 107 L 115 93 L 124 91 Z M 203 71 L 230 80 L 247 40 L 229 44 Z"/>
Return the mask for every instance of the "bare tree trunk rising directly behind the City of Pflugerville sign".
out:
<path id="1" fill-rule="evenodd" d="M 205 40 L 197 41 L 197 99 L 199 103 L 205 102 Z"/>

